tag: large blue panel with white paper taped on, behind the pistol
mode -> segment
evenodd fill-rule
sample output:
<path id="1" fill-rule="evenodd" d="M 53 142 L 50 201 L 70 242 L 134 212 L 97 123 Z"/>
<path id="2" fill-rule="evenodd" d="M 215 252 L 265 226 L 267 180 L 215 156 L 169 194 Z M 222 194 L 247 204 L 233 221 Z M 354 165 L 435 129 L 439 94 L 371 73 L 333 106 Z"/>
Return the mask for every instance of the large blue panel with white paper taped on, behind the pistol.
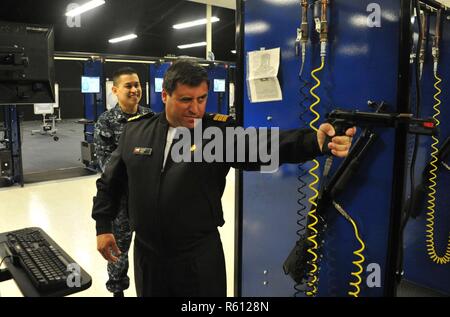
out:
<path id="1" fill-rule="evenodd" d="M 368 110 L 367 101 L 384 100 L 395 111 L 397 100 L 397 65 L 399 45 L 400 1 L 381 0 L 381 27 L 369 28 L 367 6 L 372 1 L 334 0 L 330 26 L 329 54 L 317 93 L 322 98 L 316 108 L 323 115 L 334 107 Z M 300 1 L 245 2 L 245 52 L 281 47 L 279 79 L 283 101 L 250 103 L 247 87 L 244 95 L 245 126 L 279 126 L 282 129 L 306 126 L 313 117 L 301 116 L 312 99 L 304 100 L 299 79 L 300 61 L 295 56 L 296 28 L 300 25 Z M 311 29 L 310 29 L 311 30 Z M 320 65 L 317 35 L 308 45 L 304 80 L 312 83 L 310 72 Z M 305 89 L 307 94 L 307 89 Z M 304 100 L 302 102 L 302 100 Z M 272 117 L 268 121 L 268 117 Z M 376 263 L 381 268 L 381 287 L 361 285 L 361 296 L 382 296 L 388 249 L 388 228 L 392 192 L 394 132 L 379 130 L 379 138 L 338 201 L 352 215 L 366 243 L 365 266 Z M 321 159 L 323 162 L 323 159 Z M 301 219 L 297 211 L 301 200 L 298 189 L 303 166 L 285 165 L 275 174 L 246 172 L 243 175 L 242 295 L 292 296 L 294 282 L 285 276 L 282 264 L 297 240 Z M 309 177 L 303 177 L 306 183 Z M 306 189 L 303 191 L 310 196 Z M 359 248 L 351 225 L 330 215 L 321 261 L 319 296 L 346 296 L 350 273 Z M 364 278 L 364 276 L 363 276 Z"/>

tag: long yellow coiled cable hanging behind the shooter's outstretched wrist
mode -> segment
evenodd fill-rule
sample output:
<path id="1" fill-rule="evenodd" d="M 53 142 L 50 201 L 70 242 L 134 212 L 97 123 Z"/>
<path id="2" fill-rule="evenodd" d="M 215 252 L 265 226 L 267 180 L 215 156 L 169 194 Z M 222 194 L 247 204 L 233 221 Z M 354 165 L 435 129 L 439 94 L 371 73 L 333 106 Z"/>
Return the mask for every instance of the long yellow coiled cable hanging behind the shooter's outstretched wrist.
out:
<path id="1" fill-rule="evenodd" d="M 309 123 L 309 126 L 314 131 L 318 131 L 318 129 L 314 126 L 314 123 L 317 122 L 320 119 L 320 114 L 314 110 L 314 107 L 317 106 L 320 103 L 320 97 L 317 96 L 314 91 L 320 86 L 320 80 L 316 77 L 316 73 L 320 72 L 325 66 L 325 58 L 322 58 L 322 63 L 319 68 L 316 68 L 311 72 L 311 77 L 314 78 L 316 81 L 316 85 L 311 88 L 309 91 L 310 94 L 316 99 L 316 101 L 309 107 L 309 110 L 315 115 L 315 118 Z M 314 193 L 309 199 L 309 203 L 311 204 L 311 210 L 308 213 L 308 217 L 312 219 L 312 222 L 308 225 L 308 229 L 310 230 L 310 236 L 308 237 L 308 241 L 310 241 L 313 246 L 308 248 L 307 252 L 312 255 L 312 261 L 310 263 L 311 270 L 308 272 L 309 280 L 308 280 L 308 287 L 309 289 L 306 291 L 307 296 L 315 296 L 317 294 L 317 282 L 318 282 L 318 266 L 317 266 L 317 253 L 316 250 L 319 247 L 319 244 L 316 241 L 318 231 L 315 228 L 317 223 L 319 222 L 319 219 L 316 217 L 317 212 L 317 203 L 316 199 L 319 196 L 319 192 L 315 188 L 315 185 L 319 182 L 319 177 L 316 174 L 316 171 L 319 169 L 320 164 L 319 161 L 313 160 L 314 166 L 309 169 L 308 173 L 311 175 L 314 180 L 308 185 L 309 189 Z"/>

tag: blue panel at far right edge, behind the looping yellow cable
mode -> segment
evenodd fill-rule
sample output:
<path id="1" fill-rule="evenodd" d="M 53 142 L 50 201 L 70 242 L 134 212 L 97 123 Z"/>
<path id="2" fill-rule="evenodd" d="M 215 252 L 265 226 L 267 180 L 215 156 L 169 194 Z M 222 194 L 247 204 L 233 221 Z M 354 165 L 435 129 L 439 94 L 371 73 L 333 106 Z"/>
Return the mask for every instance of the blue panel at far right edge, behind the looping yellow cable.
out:
<path id="1" fill-rule="evenodd" d="M 434 35 L 435 17 L 430 19 L 430 38 Z M 438 75 L 443 79 L 439 84 L 442 93 L 438 97 L 441 100 L 439 110 L 440 124 L 440 145 L 450 136 L 450 21 L 443 19 L 442 25 L 442 41 L 441 41 L 441 61 L 438 69 Z M 432 41 L 428 42 L 427 59 L 424 66 L 424 73 L 421 80 L 422 87 L 422 116 L 431 117 L 435 111 L 433 106 L 436 101 L 433 96 L 437 90 L 434 88 L 436 82 L 433 74 L 433 64 L 431 58 Z M 431 139 L 421 138 L 418 150 L 416 172 L 417 181 L 421 180 L 422 171 L 425 164 L 430 160 L 431 155 Z M 448 161 L 447 161 L 448 163 Z M 428 179 L 428 176 L 426 177 Z M 429 184 L 429 183 L 428 183 Z M 449 243 L 450 234 L 450 197 L 448 189 L 450 188 L 450 173 L 443 167 L 439 166 L 437 171 L 436 186 L 436 207 L 435 207 L 435 245 L 439 256 L 445 254 L 445 249 Z M 427 199 L 428 200 L 428 197 Z M 420 206 L 420 215 L 416 219 L 411 219 L 405 230 L 404 246 L 405 246 L 405 278 L 417 284 L 440 290 L 450 294 L 450 263 L 439 265 L 434 263 L 427 255 L 426 248 L 426 213 L 428 204 L 424 202 Z"/>

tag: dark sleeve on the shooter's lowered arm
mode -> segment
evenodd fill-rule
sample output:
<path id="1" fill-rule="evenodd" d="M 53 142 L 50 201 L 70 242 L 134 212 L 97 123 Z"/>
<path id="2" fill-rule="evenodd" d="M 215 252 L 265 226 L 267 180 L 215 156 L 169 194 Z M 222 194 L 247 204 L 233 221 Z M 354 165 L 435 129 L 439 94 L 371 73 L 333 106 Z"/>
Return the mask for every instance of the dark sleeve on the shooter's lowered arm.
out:
<path id="1" fill-rule="evenodd" d="M 111 154 L 105 171 L 97 180 L 97 195 L 94 197 L 92 207 L 97 235 L 112 232 L 112 221 L 117 217 L 120 198 L 128 188 L 126 167 L 122 159 L 124 140 L 126 140 L 126 126 L 120 137 L 119 146 Z"/>

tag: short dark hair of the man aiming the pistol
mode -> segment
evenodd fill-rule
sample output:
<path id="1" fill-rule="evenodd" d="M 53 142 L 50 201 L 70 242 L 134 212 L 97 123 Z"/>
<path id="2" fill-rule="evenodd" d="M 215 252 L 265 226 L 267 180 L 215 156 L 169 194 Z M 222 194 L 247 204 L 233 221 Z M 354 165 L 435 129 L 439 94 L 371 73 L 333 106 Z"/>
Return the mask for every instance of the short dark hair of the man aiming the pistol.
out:
<path id="1" fill-rule="evenodd" d="M 197 87 L 202 82 L 206 82 L 209 89 L 208 72 L 193 60 L 179 59 L 167 69 L 163 88 L 169 95 L 172 95 L 178 83 Z"/>

